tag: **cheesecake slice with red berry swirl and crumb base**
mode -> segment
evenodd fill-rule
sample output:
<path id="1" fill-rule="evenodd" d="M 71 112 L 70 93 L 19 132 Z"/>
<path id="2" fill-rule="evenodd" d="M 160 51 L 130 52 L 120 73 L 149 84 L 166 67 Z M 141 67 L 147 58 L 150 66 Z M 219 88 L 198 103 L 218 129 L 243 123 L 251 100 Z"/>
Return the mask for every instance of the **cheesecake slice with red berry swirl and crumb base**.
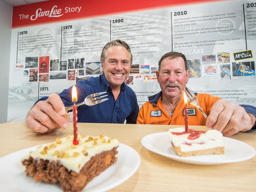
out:
<path id="1" fill-rule="evenodd" d="M 211 129 L 196 131 L 184 127 L 169 129 L 171 144 L 175 153 L 182 157 L 195 155 L 224 154 L 224 142 L 221 132 Z"/>

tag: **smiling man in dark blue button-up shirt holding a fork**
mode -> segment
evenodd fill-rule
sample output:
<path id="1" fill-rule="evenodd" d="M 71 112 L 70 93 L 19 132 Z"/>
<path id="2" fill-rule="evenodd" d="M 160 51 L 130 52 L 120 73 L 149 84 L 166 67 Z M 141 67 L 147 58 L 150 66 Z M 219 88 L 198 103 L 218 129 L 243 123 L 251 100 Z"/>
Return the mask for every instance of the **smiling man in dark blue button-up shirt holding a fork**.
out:
<path id="1" fill-rule="evenodd" d="M 130 46 L 121 40 L 107 43 L 100 57 L 103 74 L 76 84 L 78 102 L 96 92 L 106 91 L 108 100 L 98 105 L 78 107 L 78 122 L 135 124 L 139 112 L 134 91 L 124 81 L 132 64 Z M 26 118 L 27 125 L 37 133 L 49 133 L 56 127 L 68 127 L 69 114 L 64 106 L 72 105 L 72 88 L 59 95 L 43 97 L 32 107 Z"/>

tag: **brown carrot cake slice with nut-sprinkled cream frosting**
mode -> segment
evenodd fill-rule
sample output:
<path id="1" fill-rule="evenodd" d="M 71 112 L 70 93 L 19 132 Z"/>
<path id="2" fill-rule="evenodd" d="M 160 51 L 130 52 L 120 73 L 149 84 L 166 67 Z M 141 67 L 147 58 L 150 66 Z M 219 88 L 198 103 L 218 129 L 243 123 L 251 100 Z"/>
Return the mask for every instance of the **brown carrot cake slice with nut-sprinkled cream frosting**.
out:
<path id="1" fill-rule="evenodd" d="M 65 192 L 76 192 L 94 177 L 117 161 L 115 155 L 119 141 L 107 136 L 78 134 L 79 144 L 73 136 L 57 138 L 55 142 L 39 146 L 22 159 L 26 174 L 45 183 L 59 183 Z"/>

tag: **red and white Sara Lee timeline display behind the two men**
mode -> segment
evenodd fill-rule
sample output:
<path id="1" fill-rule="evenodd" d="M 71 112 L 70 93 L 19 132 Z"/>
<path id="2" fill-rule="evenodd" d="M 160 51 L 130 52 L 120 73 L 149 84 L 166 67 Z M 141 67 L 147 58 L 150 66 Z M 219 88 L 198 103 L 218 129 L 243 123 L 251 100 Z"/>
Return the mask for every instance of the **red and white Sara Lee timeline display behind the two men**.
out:
<path id="1" fill-rule="evenodd" d="M 124 5 L 96 15 L 89 9 L 96 2 L 14 7 L 8 121 L 24 120 L 39 98 L 98 76 L 101 50 L 114 39 L 132 48 L 125 83 L 139 106 L 161 90 L 156 70 L 169 51 L 186 55 L 191 71 L 187 86 L 194 92 L 256 106 L 256 2 L 152 2 L 143 7 L 134 1 L 134 8 Z"/>

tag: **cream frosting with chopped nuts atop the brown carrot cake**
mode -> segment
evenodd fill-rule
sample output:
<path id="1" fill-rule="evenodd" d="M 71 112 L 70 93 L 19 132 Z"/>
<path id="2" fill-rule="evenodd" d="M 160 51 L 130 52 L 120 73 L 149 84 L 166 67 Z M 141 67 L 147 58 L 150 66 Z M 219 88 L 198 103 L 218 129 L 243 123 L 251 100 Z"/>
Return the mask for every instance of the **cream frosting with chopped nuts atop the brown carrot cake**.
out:
<path id="1" fill-rule="evenodd" d="M 78 134 L 78 140 L 79 144 L 74 145 L 73 136 L 71 135 L 57 138 L 53 143 L 39 146 L 37 150 L 30 152 L 24 159 L 31 156 L 33 159 L 49 160 L 50 162 L 58 161 L 68 170 L 79 173 L 91 157 L 119 146 L 117 139 L 111 139 L 103 135 L 82 137 Z"/>

